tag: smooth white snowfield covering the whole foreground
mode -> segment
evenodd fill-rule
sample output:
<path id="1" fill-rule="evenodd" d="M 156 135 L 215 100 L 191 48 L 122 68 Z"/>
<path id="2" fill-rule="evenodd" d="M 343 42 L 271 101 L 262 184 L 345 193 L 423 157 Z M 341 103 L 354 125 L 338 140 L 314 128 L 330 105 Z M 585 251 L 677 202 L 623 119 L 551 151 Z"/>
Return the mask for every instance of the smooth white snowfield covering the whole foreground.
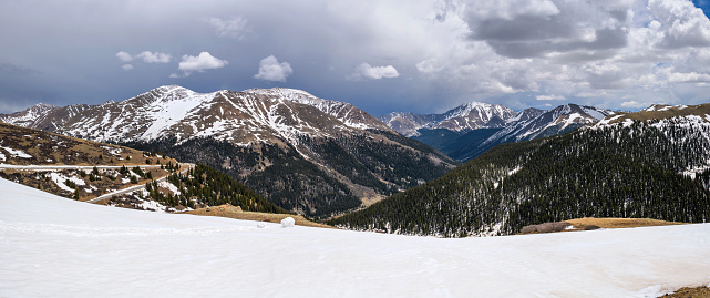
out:
<path id="1" fill-rule="evenodd" d="M 440 239 L 91 205 L 0 179 L 0 297 L 655 297 L 710 225 Z"/>

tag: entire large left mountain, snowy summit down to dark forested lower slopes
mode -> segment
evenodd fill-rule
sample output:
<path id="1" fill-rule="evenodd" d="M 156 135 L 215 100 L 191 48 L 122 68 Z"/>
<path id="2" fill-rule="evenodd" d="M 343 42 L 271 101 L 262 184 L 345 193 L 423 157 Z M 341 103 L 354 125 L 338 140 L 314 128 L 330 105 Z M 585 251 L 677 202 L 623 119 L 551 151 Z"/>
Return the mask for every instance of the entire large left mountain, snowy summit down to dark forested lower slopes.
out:
<path id="1" fill-rule="evenodd" d="M 21 113 L 0 121 L 16 123 Z M 22 123 L 202 162 L 310 216 L 357 208 L 456 164 L 350 104 L 288 89 L 197 93 L 169 85 L 121 102 L 52 107 Z"/>

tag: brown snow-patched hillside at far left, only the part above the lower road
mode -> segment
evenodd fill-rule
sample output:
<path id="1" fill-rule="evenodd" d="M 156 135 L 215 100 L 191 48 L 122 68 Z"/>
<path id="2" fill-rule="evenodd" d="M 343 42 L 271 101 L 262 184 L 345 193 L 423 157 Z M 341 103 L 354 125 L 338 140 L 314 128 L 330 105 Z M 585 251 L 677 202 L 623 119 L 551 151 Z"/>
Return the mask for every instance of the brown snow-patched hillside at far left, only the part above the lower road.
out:
<path id="1" fill-rule="evenodd" d="M 65 197 L 90 201 L 177 167 L 155 153 L 0 123 L 0 177 Z"/>

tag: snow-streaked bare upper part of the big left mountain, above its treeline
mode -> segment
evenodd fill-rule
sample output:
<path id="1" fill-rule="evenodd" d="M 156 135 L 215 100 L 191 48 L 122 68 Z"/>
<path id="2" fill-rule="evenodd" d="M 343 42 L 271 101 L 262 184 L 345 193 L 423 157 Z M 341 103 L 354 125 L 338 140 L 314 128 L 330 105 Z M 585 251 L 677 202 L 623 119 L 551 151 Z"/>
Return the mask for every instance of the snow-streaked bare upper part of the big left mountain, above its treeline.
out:
<path id="1" fill-rule="evenodd" d="M 337 125 L 330 125 L 333 122 L 330 117 L 338 120 Z M 210 136 L 243 145 L 279 144 L 294 142 L 298 135 L 332 136 L 352 129 L 389 131 L 351 104 L 317 99 L 303 91 L 197 93 L 177 85 L 92 106 L 38 104 L 16 114 L 0 115 L 0 120 L 97 142 L 147 142 L 166 136 L 185 141 Z"/>

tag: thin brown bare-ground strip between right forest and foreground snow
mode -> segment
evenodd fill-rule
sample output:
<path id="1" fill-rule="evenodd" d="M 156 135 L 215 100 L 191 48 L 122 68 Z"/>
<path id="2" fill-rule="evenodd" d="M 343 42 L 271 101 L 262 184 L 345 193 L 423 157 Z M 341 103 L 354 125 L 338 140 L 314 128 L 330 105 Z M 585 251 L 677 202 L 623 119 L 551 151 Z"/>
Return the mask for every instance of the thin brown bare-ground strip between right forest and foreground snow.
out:
<path id="1" fill-rule="evenodd" d="M 595 218 L 583 217 L 557 223 L 524 226 L 519 234 L 556 233 L 572 230 L 593 230 L 598 228 L 630 228 L 685 225 L 685 223 L 666 222 L 651 218 Z M 518 234 L 518 235 L 519 235 Z"/>

